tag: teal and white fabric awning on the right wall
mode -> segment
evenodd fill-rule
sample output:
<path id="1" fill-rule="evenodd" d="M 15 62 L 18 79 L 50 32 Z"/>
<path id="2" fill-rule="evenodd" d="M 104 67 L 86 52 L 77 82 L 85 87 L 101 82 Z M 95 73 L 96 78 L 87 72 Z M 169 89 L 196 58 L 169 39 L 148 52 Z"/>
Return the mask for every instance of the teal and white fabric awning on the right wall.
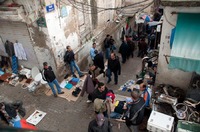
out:
<path id="1" fill-rule="evenodd" d="M 178 14 L 169 68 L 200 73 L 199 13 Z"/>

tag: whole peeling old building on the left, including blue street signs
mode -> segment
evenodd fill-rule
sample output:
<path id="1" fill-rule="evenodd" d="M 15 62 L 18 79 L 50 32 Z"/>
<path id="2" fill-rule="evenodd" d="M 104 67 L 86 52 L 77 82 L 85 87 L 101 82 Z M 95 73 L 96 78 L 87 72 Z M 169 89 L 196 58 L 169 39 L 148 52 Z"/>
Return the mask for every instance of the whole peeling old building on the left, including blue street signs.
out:
<path id="1" fill-rule="evenodd" d="M 106 34 L 119 38 L 121 33 L 116 10 L 107 8 L 121 7 L 122 1 L 5 0 L 0 4 L 1 45 L 6 40 L 22 43 L 27 61 L 19 60 L 19 64 L 27 68 L 42 69 L 47 61 L 61 75 L 65 49 L 70 45 L 83 70 L 91 61 L 93 42 L 101 49 Z"/>

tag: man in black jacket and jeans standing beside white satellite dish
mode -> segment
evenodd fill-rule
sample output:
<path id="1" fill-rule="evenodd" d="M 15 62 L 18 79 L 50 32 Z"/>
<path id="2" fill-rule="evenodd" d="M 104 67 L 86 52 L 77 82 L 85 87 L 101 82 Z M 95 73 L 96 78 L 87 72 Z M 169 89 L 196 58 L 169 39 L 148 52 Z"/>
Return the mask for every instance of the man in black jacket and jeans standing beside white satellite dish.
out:
<path id="1" fill-rule="evenodd" d="M 60 85 L 56 79 L 56 76 L 53 72 L 53 69 L 51 66 L 48 66 L 47 62 L 43 63 L 44 69 L 42 71 L 42 78 L 48 82 L 54 97 L 57 97 L 56 91 L 54 89 L 54 85 L 56 85 L 58 94 L 64 94 L 64 92 L 61 91 Z"/>

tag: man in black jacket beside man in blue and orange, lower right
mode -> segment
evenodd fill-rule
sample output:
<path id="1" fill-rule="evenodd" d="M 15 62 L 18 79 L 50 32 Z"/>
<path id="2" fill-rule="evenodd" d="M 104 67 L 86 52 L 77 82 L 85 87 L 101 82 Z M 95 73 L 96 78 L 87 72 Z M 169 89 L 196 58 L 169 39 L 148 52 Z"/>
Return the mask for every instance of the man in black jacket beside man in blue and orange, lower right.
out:
<path id="1" fill-rule="evenodd" d="M 138 125 L 142 123 L 144 118 L 145 101 L 140 97 L 140 91 L 138 89 L 133 89 L 131 97 L 133 102 L 129 109 L 130 114 L 126 118 L 126 125 L 130 132 L 132 132 L 132 128 L 134 132 L 138 132 Z"/>

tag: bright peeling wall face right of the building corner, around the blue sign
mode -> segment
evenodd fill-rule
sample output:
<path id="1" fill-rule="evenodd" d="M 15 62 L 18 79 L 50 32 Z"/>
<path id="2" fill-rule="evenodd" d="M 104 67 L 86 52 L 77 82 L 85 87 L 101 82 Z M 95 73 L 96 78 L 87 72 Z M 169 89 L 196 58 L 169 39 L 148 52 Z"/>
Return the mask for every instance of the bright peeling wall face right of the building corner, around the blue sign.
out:
<path id="1" fill-rule="evenodd" d="M 82 0 L 85 4 L 91 4 L 98 7 L 115 7 L 121 6 L 121 1 L 111 0 Z M 70 3 L 56 3 L 55 0 L 45 0 L 45 6 L 54 3 L 55 10 L 52 12 L 45 12 L 47 22 L 47 38 L 49 39 L 48 47 L 53 52 L 56 69 L 58 73 L 63 73 L 63 56 L 65 48 L 70 45 L 76 54 L 76 60 L 81 70 L 84 70 L 88 63 L 91 63 L 89 56 L 90 48 L 93 40 L 98 38 L 98 48 L 101 47 L 101 42 L 105 38 L 105 32 L 109 23 L 113 23 L 115 11 L 104 11 L 99 14 L 94 14 L 97 10 L 92 10 L 92 13 L 84 13 L 72 7 Z M 67 15 L 60 16 L 60 7 L 65 6 Z M 81 9 L 83 10 L 83 9 Z M 110 20 L 107 22 L 107 20 Z M 99 37 L 99 35 L 102 35 Z"/>

